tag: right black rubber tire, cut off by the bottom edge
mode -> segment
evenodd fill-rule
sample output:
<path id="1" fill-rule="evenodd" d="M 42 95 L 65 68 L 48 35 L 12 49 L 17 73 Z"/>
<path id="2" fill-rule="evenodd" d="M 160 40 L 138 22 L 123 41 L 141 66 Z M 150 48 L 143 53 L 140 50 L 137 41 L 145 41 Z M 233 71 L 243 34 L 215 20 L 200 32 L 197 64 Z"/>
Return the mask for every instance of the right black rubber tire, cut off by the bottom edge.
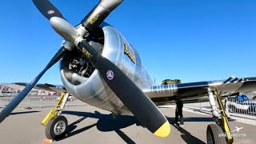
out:
<path id="1" fill-rule="evenodd" d="M 226 144 L 226 137 L 223 135 L 219 134 L 224 134 L 222 128 L 216 124 L 210 124 L 207 126 L 207 131 L 206 131 L 206 140 L 208 144 Z"/>

